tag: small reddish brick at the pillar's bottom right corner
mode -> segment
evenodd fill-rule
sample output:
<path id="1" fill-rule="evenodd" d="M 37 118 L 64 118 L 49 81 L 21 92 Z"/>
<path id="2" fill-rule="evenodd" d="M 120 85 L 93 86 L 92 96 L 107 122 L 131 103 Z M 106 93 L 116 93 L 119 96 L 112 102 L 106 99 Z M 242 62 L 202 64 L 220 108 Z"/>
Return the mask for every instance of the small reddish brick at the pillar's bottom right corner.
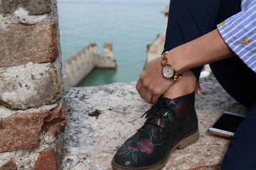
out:
<path id="1" fill-rule="evenodd" d="M 31 170 L 58 170 L 58 163 L 54 149 L 44 150 L 36 160 L 35 167 Z"/>

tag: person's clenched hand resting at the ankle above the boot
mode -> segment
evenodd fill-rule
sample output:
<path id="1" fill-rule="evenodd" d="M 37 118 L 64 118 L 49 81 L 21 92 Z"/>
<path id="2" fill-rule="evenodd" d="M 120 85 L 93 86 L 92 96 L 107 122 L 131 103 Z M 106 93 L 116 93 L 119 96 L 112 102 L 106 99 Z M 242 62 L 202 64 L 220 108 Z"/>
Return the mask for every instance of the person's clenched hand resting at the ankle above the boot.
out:
<path id="1" fill-rule="evenodd" d="M 140 74 L 136 89 L 147 103 L 156 103 L 158 98 L 168 90 L 173 81 L 162 75 L 161 57 L 148 62 L 145 70 Z"/>

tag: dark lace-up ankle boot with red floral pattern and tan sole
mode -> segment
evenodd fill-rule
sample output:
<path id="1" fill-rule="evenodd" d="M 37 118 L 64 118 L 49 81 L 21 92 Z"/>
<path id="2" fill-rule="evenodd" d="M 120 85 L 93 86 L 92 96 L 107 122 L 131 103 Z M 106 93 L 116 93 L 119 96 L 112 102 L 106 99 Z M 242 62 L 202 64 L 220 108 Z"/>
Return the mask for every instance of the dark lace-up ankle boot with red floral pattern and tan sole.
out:
<path id="1" fill-rule="evenodd" d="M 113 157 L 113 169 L 161 169 L 175 148 L 199 138 L 195 92 L 175 99 L 161 97 L 145 114 L 144 125 Z"/>

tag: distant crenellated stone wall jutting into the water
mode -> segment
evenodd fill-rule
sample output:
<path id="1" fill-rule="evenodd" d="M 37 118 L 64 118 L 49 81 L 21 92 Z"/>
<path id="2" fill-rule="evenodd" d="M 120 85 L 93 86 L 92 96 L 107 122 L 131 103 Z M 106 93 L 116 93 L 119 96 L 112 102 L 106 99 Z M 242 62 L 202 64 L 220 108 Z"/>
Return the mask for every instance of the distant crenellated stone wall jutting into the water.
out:
<path id="1" fill-rule="evenodd" d="M 65 62 L 64 87 L 75 87 L 95 67 L 116 69 L 112 44 L 103 45 L 103 55 L 97 53 L 97 45 L 85 46 Z"/>

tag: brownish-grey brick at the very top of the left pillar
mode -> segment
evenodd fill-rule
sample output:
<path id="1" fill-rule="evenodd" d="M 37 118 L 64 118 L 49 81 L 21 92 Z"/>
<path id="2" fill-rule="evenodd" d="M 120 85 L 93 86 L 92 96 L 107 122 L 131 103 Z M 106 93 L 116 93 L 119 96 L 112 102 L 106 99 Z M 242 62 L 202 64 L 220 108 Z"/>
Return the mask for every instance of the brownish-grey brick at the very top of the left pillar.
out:
<path id="1" fill-rule="evenodd" d="M 51 12 L 51 0 L 0 0 L 0 13 L 13 13 L 18 6 L 29 11 L 29 15 Z"/>

